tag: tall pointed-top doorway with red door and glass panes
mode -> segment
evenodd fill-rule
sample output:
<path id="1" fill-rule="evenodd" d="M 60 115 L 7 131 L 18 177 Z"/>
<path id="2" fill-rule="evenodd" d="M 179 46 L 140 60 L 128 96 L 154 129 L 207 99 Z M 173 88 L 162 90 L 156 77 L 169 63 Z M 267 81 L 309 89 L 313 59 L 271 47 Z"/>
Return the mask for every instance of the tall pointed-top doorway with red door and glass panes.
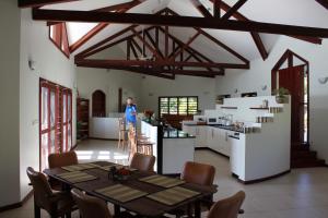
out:
<path id="1" fill-rule="evenodd" d="M 286 50 L 271 71 L 272 92 L 283 87 L 290 92 L 291 100 L 291 143 L 308 144 L 309 86 L 308 61 L 291 50 Z"/>

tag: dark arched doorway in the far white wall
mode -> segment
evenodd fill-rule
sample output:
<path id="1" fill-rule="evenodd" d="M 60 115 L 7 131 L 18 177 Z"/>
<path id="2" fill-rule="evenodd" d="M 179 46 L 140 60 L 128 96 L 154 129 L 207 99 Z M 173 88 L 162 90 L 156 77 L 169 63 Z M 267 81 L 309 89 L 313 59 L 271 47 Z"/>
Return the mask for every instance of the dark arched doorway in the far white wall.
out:
<path id="1" fill-rule="evenodd" d="M 103 90 L 92 94 L 92 117 L 106 117 L 106 94 Z"/>

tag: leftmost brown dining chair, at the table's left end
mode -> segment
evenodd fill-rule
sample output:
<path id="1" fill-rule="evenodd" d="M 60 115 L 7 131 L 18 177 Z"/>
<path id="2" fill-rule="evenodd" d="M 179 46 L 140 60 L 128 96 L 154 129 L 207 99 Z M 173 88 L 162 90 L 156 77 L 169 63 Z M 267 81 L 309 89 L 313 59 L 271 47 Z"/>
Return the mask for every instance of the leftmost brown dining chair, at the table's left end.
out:
<path id="1" fill-rule="evenodd" d="M 49 182 L 40 172 L 36 172 L 32 167 L 26 170 L 34 192 L 34 214 L 35 218 L 40 218 L 40 209 L 45 209 L 51 218 L 71 217 L 74 210 L 74 201 L 69 192 L 52 192 Z"/>

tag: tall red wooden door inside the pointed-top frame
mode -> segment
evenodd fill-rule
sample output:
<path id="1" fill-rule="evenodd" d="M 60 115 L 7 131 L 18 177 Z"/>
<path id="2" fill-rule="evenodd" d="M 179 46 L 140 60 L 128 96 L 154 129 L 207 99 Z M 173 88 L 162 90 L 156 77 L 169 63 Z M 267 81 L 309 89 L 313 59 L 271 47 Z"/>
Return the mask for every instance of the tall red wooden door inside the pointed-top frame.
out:
<path id="1" fill-rule="evenodd" d="M 291 102 L 291 141 L 304 142 L 304 66 L 293 66 L 279 71 L 279 87 L 290 90 Z"/>

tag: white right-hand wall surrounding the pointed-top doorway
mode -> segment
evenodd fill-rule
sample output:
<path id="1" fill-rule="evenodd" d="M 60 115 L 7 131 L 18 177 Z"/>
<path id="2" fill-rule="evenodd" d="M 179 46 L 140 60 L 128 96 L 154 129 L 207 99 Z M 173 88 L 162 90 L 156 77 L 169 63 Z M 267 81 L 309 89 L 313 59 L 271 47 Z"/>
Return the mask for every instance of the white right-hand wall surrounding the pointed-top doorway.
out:
<path id="1" fill-rule="evenodd" d="M 216 78 L 215 93 L 236 96 L 241 93 L 258 92 L 259 95 L 270 95 L 271 69 L 286 49 L 309 61 L 309 137 L 313 148 L 328 162 L 325 131 L 328 125 L 328 84 L 318 83 L 319 77 L 328 76 L 327 39 L 319 46 L 281 36 L 266 61 L 254 60 L 250 62 L 250 70 L 230 70 L 224 77 Z M 263 85 L 268 86 L 266 90 L 261 90 Z M 235 88 L 239 90 L 237 94 L 234 94 Z"/>

